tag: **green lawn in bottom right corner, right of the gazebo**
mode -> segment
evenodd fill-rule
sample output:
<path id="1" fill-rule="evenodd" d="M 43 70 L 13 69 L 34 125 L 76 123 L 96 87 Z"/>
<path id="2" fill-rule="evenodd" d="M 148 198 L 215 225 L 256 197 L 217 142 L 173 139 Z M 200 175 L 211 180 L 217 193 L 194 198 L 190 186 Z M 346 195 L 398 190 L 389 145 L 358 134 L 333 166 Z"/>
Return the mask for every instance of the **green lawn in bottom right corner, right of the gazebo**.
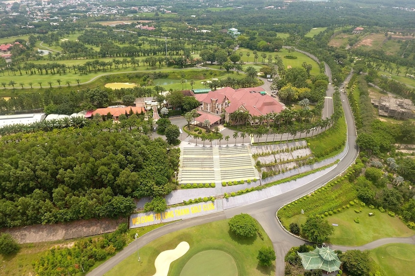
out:
<path id="1" fill-rule="evenodd" d="M 386 275 L 415 276 L 415 245 L 391 243 L 370 250 L 370 256 Z"/>

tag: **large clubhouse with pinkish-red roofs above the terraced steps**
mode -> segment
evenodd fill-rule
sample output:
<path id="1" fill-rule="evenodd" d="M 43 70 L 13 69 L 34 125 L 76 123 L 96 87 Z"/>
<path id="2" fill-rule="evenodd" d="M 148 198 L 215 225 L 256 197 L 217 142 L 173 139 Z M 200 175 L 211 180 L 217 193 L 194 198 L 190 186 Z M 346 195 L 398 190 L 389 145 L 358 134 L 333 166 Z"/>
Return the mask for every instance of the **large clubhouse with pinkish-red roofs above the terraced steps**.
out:
<path id="1" fill-rule="evenodd" d="M 229 122 L 230 114 L 235 111 L 248 111 L 251 117 L 259 117 L 269 113 L 280 113 L 285 106 L 268 95 L 262 87 L 233 89 L 225 87 L 207 94 L 196 94 L 201 103 L 198 122 L 209 120 L 211 124 L 221 120 L 221 113 L 225 112 L 225 122 Z M 203 118 L 202 118 L 203 117 Z M 250 119 L 251 125 L 257 123 Z"/>

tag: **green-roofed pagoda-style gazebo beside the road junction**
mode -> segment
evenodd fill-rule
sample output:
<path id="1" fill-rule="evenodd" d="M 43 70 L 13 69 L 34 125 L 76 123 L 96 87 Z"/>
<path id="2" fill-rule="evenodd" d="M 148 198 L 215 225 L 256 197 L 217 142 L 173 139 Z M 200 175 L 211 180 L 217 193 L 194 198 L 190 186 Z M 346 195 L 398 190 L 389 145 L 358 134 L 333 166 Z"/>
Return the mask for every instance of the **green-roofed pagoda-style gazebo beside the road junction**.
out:
<path id="1" fill-rule="evenodd" d="M 305 270 L 321 269 L 329 274 L 340 270 L 342 263 L 334 250 L 328 247 L 316 247 L 313 251 L 297 254 Z"/>

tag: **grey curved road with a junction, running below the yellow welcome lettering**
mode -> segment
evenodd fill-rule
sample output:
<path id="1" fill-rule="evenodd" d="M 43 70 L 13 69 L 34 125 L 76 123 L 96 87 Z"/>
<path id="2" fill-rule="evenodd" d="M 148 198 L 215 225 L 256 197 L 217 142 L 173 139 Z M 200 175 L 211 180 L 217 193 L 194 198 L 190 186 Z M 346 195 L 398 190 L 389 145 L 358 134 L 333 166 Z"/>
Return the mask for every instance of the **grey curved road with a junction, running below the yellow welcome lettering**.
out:
<path id="1" fill-rule="evenodd" d="M 347 135 L 348 135 L 348 151 L 345 157 L 337 164 L 337 167 L 334 170 L 329 171 L 325 175 L 314 179 L 313 181 L 309 182 L 308 184 L 292 190 L 288 191 L 284 194 L 279 196 L 274 196 L 268 199 L 264 199 L 263 201 L 256 202 L 253 204 L 225 210 L 222 212 L 216 212 L 205 216 L 200 216 L 196 218 L 190 218 L 186 220 L 182 220 L 173 224 L 169 224 L 158 228 L 148 234 L 145 234 L 139 237 L 137 240 L 132 242 L 130 245 L 125 247 L 121 252 L 117 253 L 114 257 L 110 258 L 105 263 L 101 264 L 94 270 L 92 270 L 88 275 L 89 276 L 102 276 L 109 270 L 111 270 L 116 264 L 122 261 L 127 256 L 133 254 L 150 241 L 153 241 L 165 234 L 184 229 L 187 227 L 200 225 L 212 221 L 217 221 L 225 218 L 231 218 L 235 214 L 239 214 L 241 212 L 249 213 L 254 216 L 255 219 L 261 224 L 264 228 L 264 231 L 269 235 L 271 241 L 274 245 L 274 250 L 277 255 L 276 260 L 276 275 L 282 276 L 284 275 L 284 256 L 288 250 L 293 246 L 298 246 L 304 243 L 303 240 L 297 238 L 291 234 L 288 234 L 279 224 L 276 217 L 276 211 L 284 206 L 286 203 L 291 202 L 300 196 L 315 190 L 318 187 L 321 187 L 334 177 L 336 177 L 339 173 L 346 170 L 350 164 L 354 162 L 357 157 L 358 149 L 356 146 L 356 130 L 354 128 L 353 116 L 350 110 L 350 107 L 347 104 L 346 95 L 341 95 L 342 100 L 345 100 L 343 103 L 343 107 L 345 110 L 346 122 L 347 122 Z M 339 247 L 340 248 L 340 247 Z M 145 256 L 141 256 L 145 257 Z"/>

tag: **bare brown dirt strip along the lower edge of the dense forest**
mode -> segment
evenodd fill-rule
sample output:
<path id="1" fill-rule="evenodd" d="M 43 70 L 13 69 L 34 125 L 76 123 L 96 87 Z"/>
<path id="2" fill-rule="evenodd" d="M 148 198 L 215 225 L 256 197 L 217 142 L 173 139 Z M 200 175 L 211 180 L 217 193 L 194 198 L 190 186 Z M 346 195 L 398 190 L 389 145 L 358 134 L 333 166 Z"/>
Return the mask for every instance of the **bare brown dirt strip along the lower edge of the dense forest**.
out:
<path id="1" fill-rule="evenodd" d="M 54 241 L 114 232 L 125 218 L 89 219 L 51 225 L 31 225 L 0 232 L 11 234 L 19 243 Z"/>

